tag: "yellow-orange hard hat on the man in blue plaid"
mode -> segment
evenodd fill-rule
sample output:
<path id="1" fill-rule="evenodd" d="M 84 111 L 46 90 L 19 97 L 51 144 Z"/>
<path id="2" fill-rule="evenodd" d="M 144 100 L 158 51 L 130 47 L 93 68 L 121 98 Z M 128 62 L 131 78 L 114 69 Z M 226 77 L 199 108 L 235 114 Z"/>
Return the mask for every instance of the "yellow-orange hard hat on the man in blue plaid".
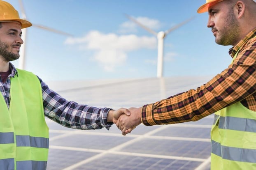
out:
<path id="1" fill-rule="evenodd" d="M 32 23 L 19 17 L 18 11 L 16 11 L 16 9 L 11 4 L 0 0 L 0 22 L 5 21 L 18 21 L 19 23 L 21 23 L 21 28 L 27 28 L 32 26 Z"/>

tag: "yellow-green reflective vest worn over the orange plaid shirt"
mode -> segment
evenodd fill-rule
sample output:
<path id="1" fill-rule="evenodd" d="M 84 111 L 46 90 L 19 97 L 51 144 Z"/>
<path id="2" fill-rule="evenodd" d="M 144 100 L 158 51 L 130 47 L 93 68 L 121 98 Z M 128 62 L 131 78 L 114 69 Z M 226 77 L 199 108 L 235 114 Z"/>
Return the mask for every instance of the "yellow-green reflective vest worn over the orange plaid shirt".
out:
<path id="1" fill-rule="evenodd" d="M 256 112 L 240 102 L 214 115 L 211 170 L 256 170 Z"/>

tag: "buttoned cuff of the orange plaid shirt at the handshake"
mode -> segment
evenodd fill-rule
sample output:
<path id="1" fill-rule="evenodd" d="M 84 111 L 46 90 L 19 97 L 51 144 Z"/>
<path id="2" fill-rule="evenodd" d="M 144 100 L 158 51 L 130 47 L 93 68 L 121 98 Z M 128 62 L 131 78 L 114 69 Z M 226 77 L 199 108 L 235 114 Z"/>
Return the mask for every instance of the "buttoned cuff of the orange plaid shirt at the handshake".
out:
<path id="1" fill-rule="evenodd" d="M 142 113 L 142 118 L 141 122 L 146 125 L 146 126 L 153 126 L 157 125 L 156 122 L 154 121 L 154 103 L 153 104 L 147 104 L 142 107 L 141 113 Z"/>

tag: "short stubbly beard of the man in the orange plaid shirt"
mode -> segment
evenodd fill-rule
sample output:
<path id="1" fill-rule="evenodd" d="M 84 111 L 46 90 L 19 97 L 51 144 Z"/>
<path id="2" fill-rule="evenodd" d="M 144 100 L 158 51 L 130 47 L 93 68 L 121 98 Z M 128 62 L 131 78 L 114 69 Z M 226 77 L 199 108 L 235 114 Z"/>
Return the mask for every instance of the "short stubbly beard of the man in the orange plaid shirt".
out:
<path id="1" fill-rule="evenodd" d="M 216 36 L 215 42 L 223 46 L 234 46 L 239 42 L 240 28 L 235 14 L 233 13 L 233 8 L 228 11 L 228 16 L 224 23 L 223 27 L 218 29 L 219 35 Z"/>

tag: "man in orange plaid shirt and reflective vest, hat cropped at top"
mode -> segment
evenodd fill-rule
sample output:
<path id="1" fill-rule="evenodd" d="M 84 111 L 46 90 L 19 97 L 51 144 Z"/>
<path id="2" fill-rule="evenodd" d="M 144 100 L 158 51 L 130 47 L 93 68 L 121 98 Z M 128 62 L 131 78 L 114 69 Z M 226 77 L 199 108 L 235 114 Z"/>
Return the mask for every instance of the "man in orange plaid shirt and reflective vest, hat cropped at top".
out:
<path id="1" fill-rule="evenodd" d="M 256 170 L 256 2 L 206 0 L 198 9 L 203 12 L 216 43 L 233 46 L 231 64 L 196 90 L 130 108 L 117 126 L 125 135 L 140 123 L 175 124 L 214 114 L 211 169 Z"/>

